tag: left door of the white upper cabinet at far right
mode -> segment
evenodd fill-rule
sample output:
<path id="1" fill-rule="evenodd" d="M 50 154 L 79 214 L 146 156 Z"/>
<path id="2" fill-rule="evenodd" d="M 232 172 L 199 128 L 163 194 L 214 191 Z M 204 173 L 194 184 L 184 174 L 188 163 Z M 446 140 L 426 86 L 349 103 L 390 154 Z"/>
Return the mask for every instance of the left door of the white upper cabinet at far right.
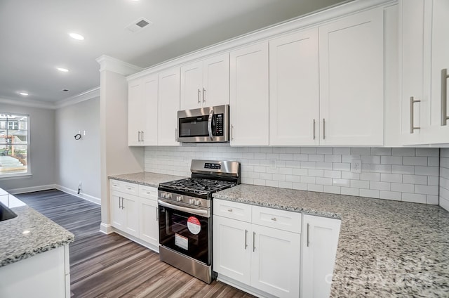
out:
<path id="1" fill-rule="evenodd" d="M 429 4 L 431 1 L 406 0 L 399 2 L 401 13 L 401 143 L 424 143 L 425 127 L 429 120 L 430 32 Z M 410 103 L 410 101 L 419 101 Z M 410 121 L 413 113 L 413 120 Z M 420 127 L 421 129 L 413 129 Z"/>

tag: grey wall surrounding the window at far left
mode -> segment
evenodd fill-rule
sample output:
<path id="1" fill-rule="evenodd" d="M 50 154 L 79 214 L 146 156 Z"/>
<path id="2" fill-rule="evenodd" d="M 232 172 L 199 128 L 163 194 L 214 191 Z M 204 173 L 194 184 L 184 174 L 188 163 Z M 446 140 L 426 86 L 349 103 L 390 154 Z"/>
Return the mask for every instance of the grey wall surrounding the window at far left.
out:
<path id="1" fill-rule="evenodd" d="M 55 183 L 55 111 L 0 103 L 1 112 L 29 115 L 29 166 L 32 176 L 0 179 L 12 193 L 41 190 Z"/>

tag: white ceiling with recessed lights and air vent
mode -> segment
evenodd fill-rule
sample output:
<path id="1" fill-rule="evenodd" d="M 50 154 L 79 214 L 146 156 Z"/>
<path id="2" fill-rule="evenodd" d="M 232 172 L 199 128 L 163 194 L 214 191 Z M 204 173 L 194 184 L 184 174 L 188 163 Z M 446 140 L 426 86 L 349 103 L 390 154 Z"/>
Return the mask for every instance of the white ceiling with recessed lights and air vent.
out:
<path id="1" fill-rule="evenodd" d="M 340 2 L 0 0 L 0 98 L 55 103 L 99 86 L 103 54 L 145 68 Z M 125 29 L 141 17 L 153 25 Z"/>

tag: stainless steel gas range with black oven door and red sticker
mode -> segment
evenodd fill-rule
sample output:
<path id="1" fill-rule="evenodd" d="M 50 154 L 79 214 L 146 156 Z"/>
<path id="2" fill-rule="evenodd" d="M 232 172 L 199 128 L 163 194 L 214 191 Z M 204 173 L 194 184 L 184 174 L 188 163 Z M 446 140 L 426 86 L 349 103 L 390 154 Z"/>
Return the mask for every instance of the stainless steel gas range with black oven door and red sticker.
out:
<path id="1" fill-rule="evenodd" d="M 211 283 L 212 194 L 240 183 L 240 163 L 192 160 L 190 171 L 159 185 L 159 259 Z"/>

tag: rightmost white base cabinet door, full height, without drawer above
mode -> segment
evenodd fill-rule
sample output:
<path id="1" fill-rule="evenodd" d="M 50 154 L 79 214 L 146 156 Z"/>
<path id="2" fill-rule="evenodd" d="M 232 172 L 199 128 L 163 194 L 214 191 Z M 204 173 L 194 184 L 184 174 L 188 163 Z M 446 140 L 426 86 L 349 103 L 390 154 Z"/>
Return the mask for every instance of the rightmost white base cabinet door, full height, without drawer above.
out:
<path id="1" fill-rule="evenodd" d="M 341 221 L 311 215 L 303 219 L 301 297 L 329 297 Z"/>

